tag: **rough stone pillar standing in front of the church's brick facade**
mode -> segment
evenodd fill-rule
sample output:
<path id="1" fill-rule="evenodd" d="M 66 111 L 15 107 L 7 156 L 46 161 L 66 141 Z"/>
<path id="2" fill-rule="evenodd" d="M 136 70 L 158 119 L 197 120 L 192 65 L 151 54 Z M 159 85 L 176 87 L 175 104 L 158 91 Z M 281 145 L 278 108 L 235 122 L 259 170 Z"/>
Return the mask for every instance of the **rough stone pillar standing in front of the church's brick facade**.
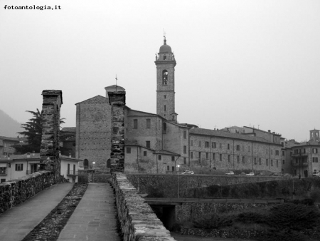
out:
<path id="1" fill-rule="evenodd" d="M 111 105 L 112 134 L 111 134 L 111 171 L 124 171 L 124 106 L 125 91 L 108 92 Z"/>

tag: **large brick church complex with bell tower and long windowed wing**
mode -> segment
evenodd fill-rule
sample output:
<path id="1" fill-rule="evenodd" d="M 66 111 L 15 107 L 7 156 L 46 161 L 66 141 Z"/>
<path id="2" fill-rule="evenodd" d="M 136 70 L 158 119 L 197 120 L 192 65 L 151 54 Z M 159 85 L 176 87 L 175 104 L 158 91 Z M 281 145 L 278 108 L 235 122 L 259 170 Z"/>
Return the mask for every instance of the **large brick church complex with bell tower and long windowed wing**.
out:
<path id="1" fill-rule="evenodd" d="M 178 123 L 175 109 L 176 58 L 164 44 L 156 56 L 156 113 L 124 108 L 124 170 L 132 173 L 175 173 L 180 170 L 252 170 L 282 172 L 279 134 L 250 128 L 207 130 Z M 76 103 L 75 158 L 84 165 L 106 169 L 111 150 L 111 106 L 108 92 L 125 91 L 120 86 L 105 88 L 106 96 Z M 246 132 L 245 132 L 246 131 Z M 259 135 L 259 133 L 262 133 Z M 179 170 L 179 171 L 180 171 Z"/>

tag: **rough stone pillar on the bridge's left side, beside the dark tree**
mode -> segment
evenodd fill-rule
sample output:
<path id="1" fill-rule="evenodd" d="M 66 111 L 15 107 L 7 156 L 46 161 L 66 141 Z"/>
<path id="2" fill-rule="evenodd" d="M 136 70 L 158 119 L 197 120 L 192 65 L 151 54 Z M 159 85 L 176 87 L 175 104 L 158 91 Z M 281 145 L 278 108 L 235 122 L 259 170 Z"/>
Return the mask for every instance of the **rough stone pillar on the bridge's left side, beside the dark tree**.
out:
<path id="1" fill-rule="evenodd" d="M 43 96 L 43 128 L 40 150 L 41 170 L 52 171 L 55 180 L 60 179 L 59 132 L 62 91 L 45 90 Z"/>

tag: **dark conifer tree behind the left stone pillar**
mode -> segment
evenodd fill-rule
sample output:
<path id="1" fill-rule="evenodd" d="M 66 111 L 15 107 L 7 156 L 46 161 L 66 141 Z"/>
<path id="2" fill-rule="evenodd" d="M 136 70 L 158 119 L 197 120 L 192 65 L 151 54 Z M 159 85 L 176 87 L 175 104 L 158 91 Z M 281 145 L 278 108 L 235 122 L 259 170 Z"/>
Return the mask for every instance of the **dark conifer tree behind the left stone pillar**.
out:
<path id="1" fill-rule="evenodd" d="M 25 131 L 18 132 L 18 134 L 26 136 L 28 139 L 27 145 L 14 145 L 16 148 L 16 153 L 31 153 L 35 151 L 36 153 L 40 152 L 41 146 L 41 137 L 42 137 L 42 125 L 43 125 L 43 112 L 39 111 L 26 111 L 33 115 L 33 118 L 29 119 L 25 124 L 21 124 L 21 127 L 25 129 Z M 60 119 L 60 124 L 65 123 L 63 120 L 65 118 Z"/>

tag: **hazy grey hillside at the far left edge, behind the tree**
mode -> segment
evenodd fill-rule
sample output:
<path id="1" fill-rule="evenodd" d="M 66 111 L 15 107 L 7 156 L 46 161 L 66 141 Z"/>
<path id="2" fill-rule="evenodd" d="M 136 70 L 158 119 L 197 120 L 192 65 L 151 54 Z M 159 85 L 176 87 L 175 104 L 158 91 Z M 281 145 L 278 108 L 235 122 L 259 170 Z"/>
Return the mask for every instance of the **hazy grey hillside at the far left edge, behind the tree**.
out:
<path id="1" fill-rule="evenodd" d="M 11 118 L 4 111 L 0 110 L 0 135 L 6 137 L 17 137 L 18 131 L 23 131 L 21 123 Z"/>

